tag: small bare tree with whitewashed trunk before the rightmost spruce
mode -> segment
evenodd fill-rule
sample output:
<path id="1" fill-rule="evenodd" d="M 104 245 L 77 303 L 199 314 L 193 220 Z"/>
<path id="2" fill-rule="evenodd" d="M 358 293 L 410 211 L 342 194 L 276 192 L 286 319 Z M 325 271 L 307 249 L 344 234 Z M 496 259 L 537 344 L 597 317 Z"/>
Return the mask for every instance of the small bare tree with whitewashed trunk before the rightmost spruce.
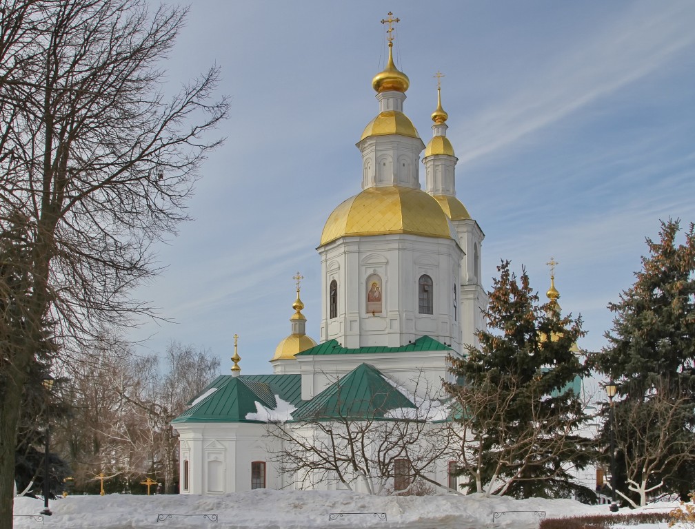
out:
<path id="1" fill-rule="evenodd" d="M 692 400 L 661 380 L 644 398 L 617 401 L 613 412 L 612 433 L 625 462 L 628 491 L 644 506 L 647 494 L 660 489 L 680 464 L 695 460 L 695 439 L 684 427 L 692 419 Z M 638 506 L 617 487 L 616 493 Z"/>

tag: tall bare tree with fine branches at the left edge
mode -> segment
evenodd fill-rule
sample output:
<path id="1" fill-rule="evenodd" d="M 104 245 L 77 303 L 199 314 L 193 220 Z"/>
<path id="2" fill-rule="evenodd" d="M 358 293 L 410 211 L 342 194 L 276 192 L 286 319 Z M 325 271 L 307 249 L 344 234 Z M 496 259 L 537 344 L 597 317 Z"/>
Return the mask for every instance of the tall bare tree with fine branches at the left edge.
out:
<path id="1" fill-rule="evenodd" d="M 227 112 L 218 70 L 163 96 L 161 61 L 186 10 L 145 0 L 3 0 L 0 237 L 22 233 L 26 276 L 1 340 L 0 529 L 12 521 L 17 412 L 44 324 L 70 362 L 102 325 L 152 314 L 129 298 L 183 208 Z M 6 296 L 6 294 L 3 294 Z M 6 297 L 6 300 L 8 298 Z"/>

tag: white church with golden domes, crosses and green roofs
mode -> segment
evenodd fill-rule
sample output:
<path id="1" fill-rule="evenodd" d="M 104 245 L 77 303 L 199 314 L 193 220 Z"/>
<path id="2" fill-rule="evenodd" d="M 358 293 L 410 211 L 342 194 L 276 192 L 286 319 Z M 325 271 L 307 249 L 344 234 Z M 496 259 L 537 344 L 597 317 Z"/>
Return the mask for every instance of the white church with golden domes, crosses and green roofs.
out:
<path id="1" fill-rule="evenodd" d="M 395 21 L 389 15 L 385 22 L 390 29 Z M 272 421 L 316 410 L 336 387 L 345 394 L 350 389 L 354 399 L 375 385 L 391 388 L 386 392 L 400 388 L 402 398 L 412 400 L 423 387 L 441 388 L 450 378 L 448 356 L 476 344 L 487 306 L 480 280 L 484 234 L 457 198 L 457 158 L 446 137 L 441 87 L 425 146 L 404 113 L 409 79 L 393 63 L 388 34 L 386 67 L 373 78 L 377 115 L 357 142 L 361 192 L 337 205 L 318 245 L 319 343 L 306 335 L 297 274 L 291 335 L 270 360 L 272 374 L 241 375 L 235 339 L 232 374 L 213 380 L 172 422 L 182 494 L 301 486 L 271 462 L 281 448 L 268 436 Z M 430 472 L 450 485 L 448 471 L 441 461 Z M 329 481 L 312 486 L 339 487 Z"/>

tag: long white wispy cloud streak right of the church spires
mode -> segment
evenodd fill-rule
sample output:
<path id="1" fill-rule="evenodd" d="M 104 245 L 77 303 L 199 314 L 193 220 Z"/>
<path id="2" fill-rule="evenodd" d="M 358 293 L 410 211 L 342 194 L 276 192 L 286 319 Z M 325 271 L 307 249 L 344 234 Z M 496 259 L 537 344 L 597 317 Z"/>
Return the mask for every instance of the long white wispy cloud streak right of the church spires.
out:
<path id="1" fill-rule="evenodd" d="M 657 13 L 639 5 L 602 34 L 587 35 L 562 61 L 538 69 L 535 82 L 516 87 L 514 96 L 494 101 L 466 124 L 476 134 L 468 137 L 459 164 L 514 144 L 664 67 L 695 43 L 693 15 L 687 2 L 663 3 Z"/>

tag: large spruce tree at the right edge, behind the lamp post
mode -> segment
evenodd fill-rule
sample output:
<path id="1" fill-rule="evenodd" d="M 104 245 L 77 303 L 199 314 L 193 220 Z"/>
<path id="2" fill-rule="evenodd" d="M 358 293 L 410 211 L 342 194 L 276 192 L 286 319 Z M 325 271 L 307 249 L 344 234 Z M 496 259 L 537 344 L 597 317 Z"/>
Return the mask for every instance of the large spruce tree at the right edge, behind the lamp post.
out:
<path id="1" fill-rule="evenodd" d="M 642 269 L 635 273 L 635 283 L 622 292 L 618 303 L 608 305 L 615 314 L 613 328 L 605 334 L 608 345 L 591 356 L 591 365 L 618 383 L 616 417 L 627 415 L 627 409 L 637 405 L 648 414 L 657 405 L 658 388 L 658 393 L 667 393 L 671 402 L 683 406 L 683 412 L 676 414 L 682 422 L 676 430 L 679 435 L 691 437 L 692 441 L 695 428 L 695 226 L 689 225 L 683 244 L 676 244 L 679 231 L 680 221 L 669 219 L 662 221 L 659 240 L 646 240 L 649 253 L 642 257 Z M 687 496 L 693 487 L 695 454 L 674 457 L 673 451 L 682 450 L 691 443 L 684 439 L 664 447 L 659 443 L 658 433 L 666 425 L 650 430 L 647 428 L 651 425 L 642 426 L 644 431 L 639 435 L 645 441 L 639 444 L 641 450 L 652 456 L 656 449 L 663 450 L 664 462 L 664 465 L 655 466 L 659 470 L 653 476 L 646 476 L 646 486 L 658 485 L 663 479 L 665 487 L 660 492 L 680 492 L 681 496 Z M 618 430 L 621 432 L 620 428 Z M 626 432 L 623 450 L 628 446 L 640 449 L 629 442 L 628 437 L 636 435 L 637 432 Z M 650 443 L 651 438 L 653 443 Z M 620 445 L 619 442 L 619 448 Z M 644 455 L 649 454 L 621 453 L 620 457 L 634 460 Z M 632 478 L 639 482 L 642 476 Z M 629 494 L 625 484 L 622 490 Z M 632 492 L 634 495 L 634 487 Z"/>

